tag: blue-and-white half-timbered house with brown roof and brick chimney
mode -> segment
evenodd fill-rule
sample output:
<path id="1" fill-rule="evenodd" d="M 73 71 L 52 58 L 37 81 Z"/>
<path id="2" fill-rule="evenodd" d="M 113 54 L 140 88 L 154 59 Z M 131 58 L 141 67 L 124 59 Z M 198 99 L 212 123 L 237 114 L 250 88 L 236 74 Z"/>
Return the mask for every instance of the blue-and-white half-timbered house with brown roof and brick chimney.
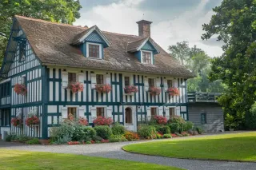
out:
<path id="1" fill-rule="evenodd" d="M 193 75 L 150 37 L 152 22 L 137 23 L 138 36 L 15 16 L 1 68 L 0 133 L 47 139 L 69 113 L 90 125 L 112 117 L 132 131 L 154 115 L 188 120 L 186 80 Z M 74 82 L 82 90 L 70 89 Z M 97 85 L 110 85 L 110 92 Z M 127 93 L 133 85 L 138 91 Z M 160 93 L 150 93 L 153 87 Z M 179 95 L 166 93 L 170 87 Z M 26 125 L 31 114 L 38 126 Z M 11 125 L 14 117 L 23 125 Z"/>

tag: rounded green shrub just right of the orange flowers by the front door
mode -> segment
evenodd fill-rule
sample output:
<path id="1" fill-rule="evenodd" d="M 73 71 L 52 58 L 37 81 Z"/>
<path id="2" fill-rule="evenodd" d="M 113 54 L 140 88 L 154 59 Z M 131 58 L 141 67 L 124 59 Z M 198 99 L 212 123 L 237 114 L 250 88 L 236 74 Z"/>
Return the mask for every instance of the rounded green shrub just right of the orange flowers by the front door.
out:
<path id="1" fill-rule="evenodd" d="M 140 125 L 138 127 L 138 135 L 145 139 L 154 139 L 156 138 L 156 129 L 154 126 L 149 125 Z"/>

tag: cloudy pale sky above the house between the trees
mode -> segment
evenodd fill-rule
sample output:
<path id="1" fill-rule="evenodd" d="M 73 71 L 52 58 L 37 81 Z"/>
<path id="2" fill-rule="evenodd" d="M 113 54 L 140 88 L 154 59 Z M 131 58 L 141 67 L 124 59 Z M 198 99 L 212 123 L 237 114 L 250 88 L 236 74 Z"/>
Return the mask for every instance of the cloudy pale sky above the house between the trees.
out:
<path id="1" fill-rule="evenodd" d="M 94 26 L 118 34 L 138 35 L 136 22 L 151 24 L 151 38 L 163 49 L 187 41 L 210 55 L 222 54 L 222 42 L 212 38 L 202 41 L 202 24 L 209 23 L 212 9 L 222 0 L 80 0 L 81 18 L 75 26 Z"/>

